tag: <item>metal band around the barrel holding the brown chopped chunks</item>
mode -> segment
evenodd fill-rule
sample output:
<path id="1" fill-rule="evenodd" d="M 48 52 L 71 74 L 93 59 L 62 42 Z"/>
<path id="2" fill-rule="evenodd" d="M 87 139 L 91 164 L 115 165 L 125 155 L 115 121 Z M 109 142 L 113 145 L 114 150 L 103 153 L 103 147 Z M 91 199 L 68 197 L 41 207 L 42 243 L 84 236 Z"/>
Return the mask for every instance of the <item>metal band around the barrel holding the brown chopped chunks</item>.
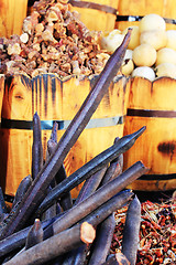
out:
<path id="1" fill-rule="evenodd" d="M 54 123 L 58 124 L 58 130 L 65 130 L 72 120 L 41 120 L 41 129 L 42 130 L 51 130 L 53 128 Z M 110 127 L 124 124 L 124 116 L 116 116 L 109 118 L 96 118 L 90 119 L 86 129 L 90 128 L 100 128 L 100 127 Z M 31 120 L 16 120 L 16 119 L 1 119 L 1 128 L 4 129 L 33 129 L 33 121 Z"/>

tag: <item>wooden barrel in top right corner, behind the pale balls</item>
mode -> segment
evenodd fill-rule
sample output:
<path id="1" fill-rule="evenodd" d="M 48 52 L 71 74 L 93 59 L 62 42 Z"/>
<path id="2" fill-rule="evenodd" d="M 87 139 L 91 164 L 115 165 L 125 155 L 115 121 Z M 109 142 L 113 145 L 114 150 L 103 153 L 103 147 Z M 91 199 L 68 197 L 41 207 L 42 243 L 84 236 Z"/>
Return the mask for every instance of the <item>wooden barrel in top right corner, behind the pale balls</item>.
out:
<path id="1" fill-rule="evenodd" d="M 116 28 L 138 25 L 141 17 L 156 13 L 166 19 L 166 30 L 176 30 L 176 9 L 173 0 L 119 0 Z"/>

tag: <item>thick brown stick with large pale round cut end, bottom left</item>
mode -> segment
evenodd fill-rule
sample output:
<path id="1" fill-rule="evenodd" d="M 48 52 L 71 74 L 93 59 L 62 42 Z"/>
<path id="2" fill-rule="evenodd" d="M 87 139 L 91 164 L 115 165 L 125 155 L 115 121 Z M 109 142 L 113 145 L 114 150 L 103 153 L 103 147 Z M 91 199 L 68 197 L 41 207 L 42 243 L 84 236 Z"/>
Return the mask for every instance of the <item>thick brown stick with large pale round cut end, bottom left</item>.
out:
<path id="1" fill-rule="evenodd" d="M 96 231 L 92 225 L 84 222 L 22 252 L 4 263 L 4 265 L 43 264 L 44 262 L 68 252 L 79 244 L 92 243 L 95 236 Z"/>

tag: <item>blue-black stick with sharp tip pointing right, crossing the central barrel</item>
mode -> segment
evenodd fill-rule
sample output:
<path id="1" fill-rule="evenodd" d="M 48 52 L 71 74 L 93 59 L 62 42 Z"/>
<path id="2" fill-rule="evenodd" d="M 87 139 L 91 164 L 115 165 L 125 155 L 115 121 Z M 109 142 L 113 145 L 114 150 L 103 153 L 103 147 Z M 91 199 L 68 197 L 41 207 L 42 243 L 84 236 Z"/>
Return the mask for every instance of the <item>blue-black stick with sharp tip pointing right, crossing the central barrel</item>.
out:
<path id="1" fill-rule="evenodd" d="M 84 165 L 81 168 L 76 170 L 67 179 L 63 180 L 62 183 L 55 187 L 41 203 L 36 212 L 38 216 L 43 211 L 45 211 L 50 205 L 52 205 L 52 203 L 56 199 L 64 195 L 65 192 L 74 189 L 76 186 L 81 183 L 84 180 L 90 178 L 95 172 L 102 169 L 106 165 L 116 159 L 118 156 L 130 149 L 134 145 L 135 140 L 143 134 L 144 130 L 145 127 L 142 127 L 138 131 L 122 137 L 113 146 L 99 153 L 97 157 L 95 157 L 89 162 Z"/>

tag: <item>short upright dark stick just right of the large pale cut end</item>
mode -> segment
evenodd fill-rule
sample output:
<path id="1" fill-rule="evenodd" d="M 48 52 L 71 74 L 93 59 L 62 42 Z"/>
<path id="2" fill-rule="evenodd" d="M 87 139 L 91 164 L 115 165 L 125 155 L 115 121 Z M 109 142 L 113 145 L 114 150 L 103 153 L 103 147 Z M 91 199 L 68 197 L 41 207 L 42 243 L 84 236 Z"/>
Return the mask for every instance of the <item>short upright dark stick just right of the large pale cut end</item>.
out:
<path id="1" fill-rule="evenodd" d="M 102 223 L 99 224 L 96 233 L 96 240 L 90 251 L 89 265 L 97 265 L 106 262 L 110 252 L 114 227 L 114 213 L 109 215 Z"/>

